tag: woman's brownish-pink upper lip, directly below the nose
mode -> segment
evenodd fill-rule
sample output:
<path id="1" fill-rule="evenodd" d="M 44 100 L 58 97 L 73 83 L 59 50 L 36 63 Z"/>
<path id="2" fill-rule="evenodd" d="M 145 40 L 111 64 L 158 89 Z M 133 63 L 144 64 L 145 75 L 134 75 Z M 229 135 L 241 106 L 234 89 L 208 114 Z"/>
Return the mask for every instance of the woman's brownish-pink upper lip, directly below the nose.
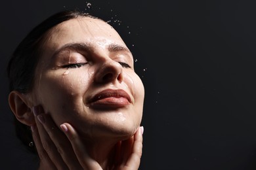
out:
<path id="1" fill-rule="evenodd" d="M 113 89 L 106 89 L 106 90 L 102 90 L 99 93 L 96 93 L 96 95 L 93 95 L 93 97 L 91 97 L 89 99 L 89 103 L 93 103 L 95 101 L 98 101 L 100 99 L 104 99 L 104 98 L 108 98 L 108 97 L 125 97 L 129 103 L 131 103 L 131 97 L 130 95 L 125 92 L 124 90 L 121 89 L 117 89 L 117 90 L 113 90 Z"/>

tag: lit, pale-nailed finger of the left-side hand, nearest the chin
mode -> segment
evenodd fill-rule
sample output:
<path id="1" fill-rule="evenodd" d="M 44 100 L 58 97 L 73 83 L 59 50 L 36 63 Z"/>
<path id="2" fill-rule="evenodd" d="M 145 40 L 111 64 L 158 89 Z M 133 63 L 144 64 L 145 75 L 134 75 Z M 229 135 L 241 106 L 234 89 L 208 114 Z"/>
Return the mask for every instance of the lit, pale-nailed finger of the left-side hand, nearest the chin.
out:
<path id="1" fill-rule="evenodd" d="M 82 167 L 84 169 L 102 169 L 100 165 L 89 156 L 85 145 L 82 143 L 74 127 L 68 123 L 64 123 L 60 125 L 60 127 L 72 144 L 75 155 Z"/>

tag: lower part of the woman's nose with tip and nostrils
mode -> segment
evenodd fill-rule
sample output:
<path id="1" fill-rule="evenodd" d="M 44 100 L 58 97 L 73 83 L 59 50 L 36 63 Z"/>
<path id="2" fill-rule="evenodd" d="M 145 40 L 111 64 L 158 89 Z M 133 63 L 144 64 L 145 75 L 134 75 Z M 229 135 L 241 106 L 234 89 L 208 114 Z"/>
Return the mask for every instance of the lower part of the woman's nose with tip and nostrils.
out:
<path id="1" fill-rule="evenodd" d="M 123 67 L 112 59 L 102 62 L 95 73 L 95 81 L 100 83 L 123 81 Z"/>

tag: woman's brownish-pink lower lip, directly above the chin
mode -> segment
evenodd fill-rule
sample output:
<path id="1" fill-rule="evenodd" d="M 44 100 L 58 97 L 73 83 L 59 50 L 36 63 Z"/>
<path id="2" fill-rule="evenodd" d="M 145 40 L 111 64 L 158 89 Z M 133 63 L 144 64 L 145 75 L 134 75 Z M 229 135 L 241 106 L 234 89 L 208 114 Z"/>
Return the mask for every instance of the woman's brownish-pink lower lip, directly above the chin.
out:
<path id="1" fill-rule="evenodd" d="M 125 107 L 129 105 L 129 101 L 125 97 L 107 97 L 104 99 L 99 99 L 91 103 L 91 107 L 93 108 L 106 108 L 106 109 L 114 109 Z"/>

